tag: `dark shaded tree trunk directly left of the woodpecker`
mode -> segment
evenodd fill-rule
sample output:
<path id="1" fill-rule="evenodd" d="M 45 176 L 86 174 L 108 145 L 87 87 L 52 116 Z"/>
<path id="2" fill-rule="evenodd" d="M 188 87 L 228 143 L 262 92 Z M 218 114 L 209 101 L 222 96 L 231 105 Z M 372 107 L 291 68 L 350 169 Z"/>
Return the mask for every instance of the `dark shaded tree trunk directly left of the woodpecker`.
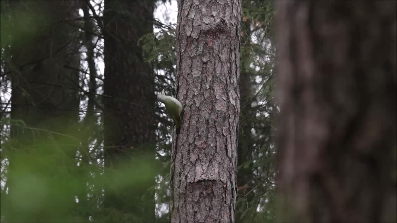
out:
<path id="1" fill-rule="evenodd" d="M 154 163 L 154 73 L 138 45 L 139 38 L 153 32 L 154 1 L 105 1 L 104 10 L 105 167 L 119 169 L 122 161 L 144 155 Z M 154 222 L 155 175 L 147 177 L 123 188 L 108 179 L 105 208 L 130 216 L 126 221 Z"/>

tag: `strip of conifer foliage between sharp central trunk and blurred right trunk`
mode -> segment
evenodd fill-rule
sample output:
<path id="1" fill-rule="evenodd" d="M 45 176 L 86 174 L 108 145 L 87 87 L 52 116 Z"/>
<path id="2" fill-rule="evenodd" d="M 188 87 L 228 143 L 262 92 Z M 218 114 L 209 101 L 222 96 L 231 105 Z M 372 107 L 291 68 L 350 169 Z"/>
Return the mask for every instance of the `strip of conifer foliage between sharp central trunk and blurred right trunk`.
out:
<path id="1" fill-rule="evenodd" d="M 243 1 L 236 222 L 276 216 L 273 14 L 272 1 Z"/>

